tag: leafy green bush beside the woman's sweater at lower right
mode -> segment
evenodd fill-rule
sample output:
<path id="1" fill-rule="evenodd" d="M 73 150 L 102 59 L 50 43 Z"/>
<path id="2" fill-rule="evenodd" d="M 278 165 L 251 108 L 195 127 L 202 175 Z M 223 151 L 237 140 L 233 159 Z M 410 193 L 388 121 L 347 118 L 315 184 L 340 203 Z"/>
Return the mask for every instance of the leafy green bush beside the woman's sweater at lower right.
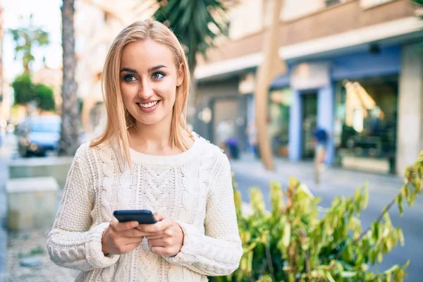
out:
<path id="1" fill-rule="evenodd" d="M 405 184 L 372 226 L 362 231 L 361 212 L 369 202 L 367 186 L 351 197 L 335 197 L 329 209 L 306 185 L 290 178 L 285 192 L 270 184 L 271 212 L 264 209 L 262 192 L 250 189 L 253 213 L 241 212 L 241 194 L 235 190 L 240 238 L 244 255 L 231 276 L 214 281 L 403 281 L 408 262 L 381 273 L 369 266 L 380 263 L 398 243 L 403 231 L 392 225 L 388 210 L 409 207 L 422 192 L 423 152 L 405 172 Z"/>

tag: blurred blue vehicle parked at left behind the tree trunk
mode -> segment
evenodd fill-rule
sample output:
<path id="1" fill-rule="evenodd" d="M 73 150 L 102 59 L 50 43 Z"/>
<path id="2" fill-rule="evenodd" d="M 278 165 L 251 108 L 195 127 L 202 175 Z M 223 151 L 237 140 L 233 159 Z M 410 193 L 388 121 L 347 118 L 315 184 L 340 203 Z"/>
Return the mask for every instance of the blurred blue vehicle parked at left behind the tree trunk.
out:
<path id="1" fill-rule="evenodd" d="M 59 149 L 60 116 L 30 116 L 18 125 L 18 150 L 21 157 L 45 157 Z"/>

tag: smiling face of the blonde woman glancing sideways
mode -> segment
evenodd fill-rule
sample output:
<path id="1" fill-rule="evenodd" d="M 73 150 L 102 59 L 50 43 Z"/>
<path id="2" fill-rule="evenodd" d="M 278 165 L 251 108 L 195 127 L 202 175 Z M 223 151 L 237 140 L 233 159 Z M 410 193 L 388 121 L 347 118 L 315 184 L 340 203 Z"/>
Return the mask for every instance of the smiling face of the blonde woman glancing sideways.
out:
<path id="1" fill-rule="evenodd" d="M 168 47 L 151 39 L 123 48 L 120 69 L 123 104 L 140 125 L 171 123 L 176 87 L 183 81 Z"/>

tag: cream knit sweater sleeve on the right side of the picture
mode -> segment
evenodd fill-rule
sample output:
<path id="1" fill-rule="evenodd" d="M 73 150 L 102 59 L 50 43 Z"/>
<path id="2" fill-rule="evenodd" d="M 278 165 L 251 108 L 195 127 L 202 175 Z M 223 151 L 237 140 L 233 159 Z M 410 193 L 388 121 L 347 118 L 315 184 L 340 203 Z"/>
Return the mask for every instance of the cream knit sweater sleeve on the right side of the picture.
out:
<path id="1" fill-rule="evenodd" d="M 221 154 L 214 188 L 207 198 L 204 221 L 205 235 L 196 226 L 177 221 L 184 233 L 183 247 L 174 257 L 166 257 L 173 264 L 185 266 L 199 274 L 223 276 L 238 269 L 243 255 L 238 233 L 231 167 Z"/>

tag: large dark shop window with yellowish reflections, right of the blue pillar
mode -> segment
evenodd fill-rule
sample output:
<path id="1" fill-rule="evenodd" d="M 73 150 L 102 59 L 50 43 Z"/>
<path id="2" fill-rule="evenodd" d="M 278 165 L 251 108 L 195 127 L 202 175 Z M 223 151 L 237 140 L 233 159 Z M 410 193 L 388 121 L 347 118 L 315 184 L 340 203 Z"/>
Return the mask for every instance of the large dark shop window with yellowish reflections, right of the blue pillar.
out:
<path id="1" fill-rule="evenodd" d="M 336 163 L 393 173 L 397 116 L 397 76 L 339 83 L 334 132 Z"/>

